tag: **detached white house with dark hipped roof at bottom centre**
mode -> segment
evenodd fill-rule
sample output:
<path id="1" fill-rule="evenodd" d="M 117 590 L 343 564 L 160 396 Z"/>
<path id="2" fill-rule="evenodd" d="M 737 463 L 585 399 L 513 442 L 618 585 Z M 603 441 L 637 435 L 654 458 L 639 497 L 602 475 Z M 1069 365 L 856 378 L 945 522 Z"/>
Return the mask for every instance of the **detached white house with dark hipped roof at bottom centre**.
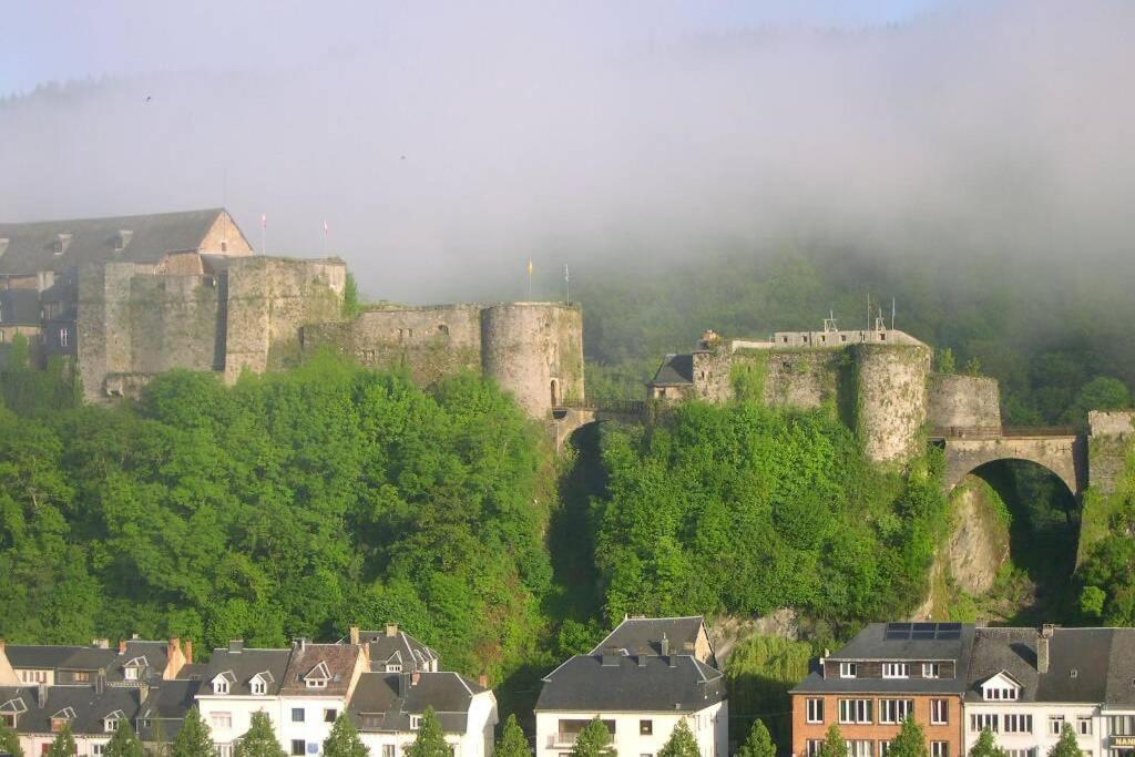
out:
<path id="1" fill-rule="evenodd" d="M 697 638 L 704 623 L 690 620 L 624 621 L 622 630 L 604 640 L 602 651 L 575 655 L 552 671 L 536 704 L 537 757 L 566 757 L 595 718 L 607 726 L 620 755 L 654 757 L 686 721 L 703 757 L 726 757 L 725 682 L 699 658 Z M 684 625 L 691 628 L 679 631 Z M 672 649 L 672 639 L 679 639 L 681 648 Z M 700 656 L 712 654 L 706 637 Z"/>

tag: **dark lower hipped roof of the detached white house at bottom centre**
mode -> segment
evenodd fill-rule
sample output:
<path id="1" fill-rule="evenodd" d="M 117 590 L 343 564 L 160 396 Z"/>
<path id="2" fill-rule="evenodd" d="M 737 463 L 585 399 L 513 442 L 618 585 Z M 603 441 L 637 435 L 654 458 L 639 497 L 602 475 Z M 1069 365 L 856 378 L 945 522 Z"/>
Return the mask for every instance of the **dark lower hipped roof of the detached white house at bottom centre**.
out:
<path id="1" fill-rule="evenodd" d="M 575 655 L 549 673 L 536 709 L 691 713 L 725 698 L 722 674 L 690 655 L 604 657 Z"/>

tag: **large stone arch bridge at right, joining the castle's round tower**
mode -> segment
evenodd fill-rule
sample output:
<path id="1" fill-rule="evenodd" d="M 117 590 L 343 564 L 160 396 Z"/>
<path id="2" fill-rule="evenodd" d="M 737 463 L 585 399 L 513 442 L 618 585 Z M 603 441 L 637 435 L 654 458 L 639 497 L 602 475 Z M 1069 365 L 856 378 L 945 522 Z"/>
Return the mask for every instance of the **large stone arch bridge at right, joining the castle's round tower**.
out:
<path id="1" fill-rule="evenodd" d="M 931 440 L 945 451 L 944 488 L 999 460 L 1036 463 L 1057 476 L 1077 501 L 1087 488 L 1087 437 L 1071 428 L 942 428 Z"/>

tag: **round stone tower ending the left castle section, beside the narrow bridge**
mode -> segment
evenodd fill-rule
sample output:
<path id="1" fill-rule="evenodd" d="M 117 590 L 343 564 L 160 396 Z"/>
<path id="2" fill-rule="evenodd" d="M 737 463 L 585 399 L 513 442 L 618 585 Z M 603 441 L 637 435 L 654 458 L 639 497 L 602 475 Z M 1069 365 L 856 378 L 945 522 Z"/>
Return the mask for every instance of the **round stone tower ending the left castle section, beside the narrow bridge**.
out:
<path id="1" fill-rule="evenodd" d="M 555 302 L 490 305 L 481 316 L 485 375 L 533 418 L 581 402 L 583 311 Z"/>

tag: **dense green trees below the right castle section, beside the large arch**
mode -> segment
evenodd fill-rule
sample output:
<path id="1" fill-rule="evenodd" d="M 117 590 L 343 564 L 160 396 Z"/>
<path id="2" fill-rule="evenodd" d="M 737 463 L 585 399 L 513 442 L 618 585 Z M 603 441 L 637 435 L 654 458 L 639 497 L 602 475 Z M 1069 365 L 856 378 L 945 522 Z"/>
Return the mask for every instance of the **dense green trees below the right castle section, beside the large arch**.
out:
<path id="1" fill-rule="evenodd" d="M 938 459 L 873 470 L 827 411 L 689 403 L 612 431 L 596 560 L 608 617 L 767 613 L 902 615 L 944 528 Z"/>

